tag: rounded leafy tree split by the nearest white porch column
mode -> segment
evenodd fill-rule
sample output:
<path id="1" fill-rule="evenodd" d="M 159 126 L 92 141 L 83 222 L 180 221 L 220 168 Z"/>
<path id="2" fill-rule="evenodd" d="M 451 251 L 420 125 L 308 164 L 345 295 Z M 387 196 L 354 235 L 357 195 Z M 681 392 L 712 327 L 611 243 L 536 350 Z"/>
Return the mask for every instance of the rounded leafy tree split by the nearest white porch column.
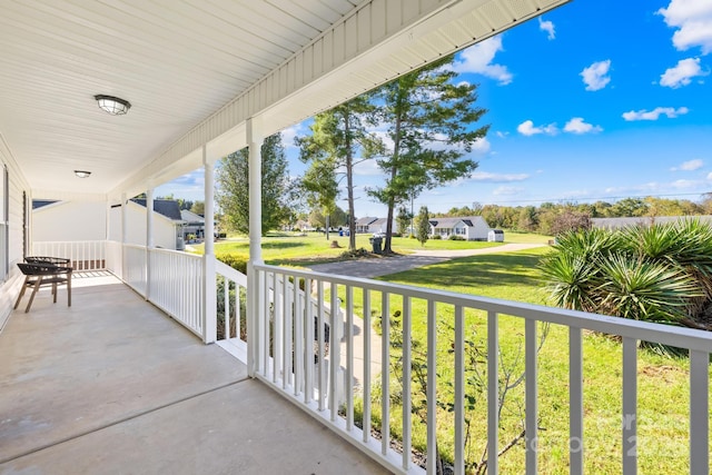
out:
<path id="1" fill-rule="evenodd" d="M 294 184 L 289 180 L 287 159 L 281 146 L 281 135 L 265 139 L 261 147 L 263 161 L 263 236 L 277 228 L 289 216 L 287 201 Z M 249 172 L 248 149 L 224 157 L 216 170 L 216 202 L 224 211 L 224 224 L 228 229 L 249 234 Z"/>

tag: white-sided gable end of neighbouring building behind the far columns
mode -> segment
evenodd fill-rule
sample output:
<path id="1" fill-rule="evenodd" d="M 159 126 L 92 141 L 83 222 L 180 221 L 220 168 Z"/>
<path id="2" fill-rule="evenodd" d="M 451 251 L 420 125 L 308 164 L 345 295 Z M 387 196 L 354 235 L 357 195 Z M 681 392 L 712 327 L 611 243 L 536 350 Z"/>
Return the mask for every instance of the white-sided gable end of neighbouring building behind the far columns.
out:
<path id="1" fill-rule="evenodd" d="M 182 227 L 186 221 L 180 216 L 178 201 L 154 200 L 154 245 L 164 249 L 182 250 L 185 241 Z M 146 200 L 129 199 L 126 202 L 126 243 L 146 246 Z M 112 206 L 109 214 L 109 239 L 121 240 L 121 205 Z"/>

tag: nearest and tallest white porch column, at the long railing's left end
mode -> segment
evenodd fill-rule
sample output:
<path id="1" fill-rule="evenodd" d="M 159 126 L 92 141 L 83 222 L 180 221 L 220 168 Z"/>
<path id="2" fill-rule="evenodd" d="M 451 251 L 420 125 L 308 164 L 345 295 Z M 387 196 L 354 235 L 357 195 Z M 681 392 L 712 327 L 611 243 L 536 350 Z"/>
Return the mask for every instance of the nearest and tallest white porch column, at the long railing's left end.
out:
<path id="1" fill-rule="evenodd" d="M 257 309 L 261 279 L 255 275 L 254 266 L 263 264 L 261 232 L 263 232 L 263 133 L 258 120 L 247 120 L 247 146 L 249 147 L 249 261 L 247 263 L 247 372 L 254 376 L 256 370 L 259 342 L 257 335 Z"/>

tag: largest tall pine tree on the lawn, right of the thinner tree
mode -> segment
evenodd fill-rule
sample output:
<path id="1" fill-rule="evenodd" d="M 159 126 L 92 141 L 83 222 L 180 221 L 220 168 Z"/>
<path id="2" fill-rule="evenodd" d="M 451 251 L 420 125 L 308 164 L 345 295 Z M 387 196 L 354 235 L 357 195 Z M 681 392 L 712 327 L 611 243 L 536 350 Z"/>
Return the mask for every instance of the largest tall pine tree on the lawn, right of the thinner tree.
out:
<path id="1" fill-rule="evenodd" d="M 473 127 L 485 109 L 475 107 L 474 85 L 455 83 L 457 73 L 445 68 L 452 60 L 446 57 L 376 91 L 380 119 L 393 144 L 389 154 L 376 160 L 386 174 L 385 185 L 368 190 L 388 209 L 384 253 L 392 253 L 396 205 L 467 177 L 477 167 L 463 156 L 487 132 L 488 126 Z"/>

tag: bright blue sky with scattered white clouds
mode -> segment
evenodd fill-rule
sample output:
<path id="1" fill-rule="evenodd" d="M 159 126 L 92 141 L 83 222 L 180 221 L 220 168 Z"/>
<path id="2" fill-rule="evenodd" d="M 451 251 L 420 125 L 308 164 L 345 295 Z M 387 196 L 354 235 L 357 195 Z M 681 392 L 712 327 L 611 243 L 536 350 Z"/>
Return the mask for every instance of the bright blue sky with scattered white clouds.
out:
<path id="1" fill-rule="evenodd" d="M 416 211 L 712 191 L 711 0 L 575 0 L 462 51 L 454 68 L 478 85 L 490 133 L 475 174 L 424 192 Z M 307 127 L 283 132 L 291 175 Z M 385 216 L 363 191 L 380 177 L 358 167 L 358 217 Z M 202 199 L 201 174 L 156 192 Z"/>

